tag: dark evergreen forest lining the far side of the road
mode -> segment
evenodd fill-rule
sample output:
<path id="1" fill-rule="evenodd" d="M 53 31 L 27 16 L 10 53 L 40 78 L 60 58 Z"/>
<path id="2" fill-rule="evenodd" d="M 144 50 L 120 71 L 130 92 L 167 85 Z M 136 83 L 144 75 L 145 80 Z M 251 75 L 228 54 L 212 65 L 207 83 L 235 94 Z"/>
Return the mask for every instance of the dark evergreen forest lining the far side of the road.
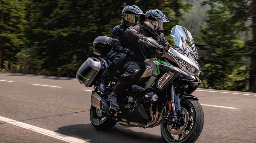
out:
<path id="1" fill-rule="evenodd" d="M 0 71 L 75 77 L 134 4 L 167 15 L 169 43 L 176 24 L 194 35 L 202 87 L 256 92 L 256 0 L 1 0 Z"/>

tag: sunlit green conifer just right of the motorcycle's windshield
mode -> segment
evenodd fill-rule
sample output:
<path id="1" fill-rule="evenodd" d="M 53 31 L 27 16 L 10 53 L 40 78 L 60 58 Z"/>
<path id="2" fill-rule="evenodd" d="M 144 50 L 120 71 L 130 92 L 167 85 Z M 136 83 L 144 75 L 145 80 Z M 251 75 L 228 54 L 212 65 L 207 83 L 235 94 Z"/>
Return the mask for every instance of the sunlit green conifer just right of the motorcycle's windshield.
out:
<path id="1" fill-rule="evenodd" d="M 233 22 L 232 13 L 226 5 L 212 1 L 205 3 L 211 9 L 207 11 L 207 27 L 202 26 L 202 37 L 199 38 L 205 43 L 201 49 L 206 52 L 206 56 L 200 60 L 204 64 L 202 79 L 207 81 L 208 88 L 245 90 L 248 74 L 240 71 L 245 71 L 242 58 L 248 49 L 236 34 L 237 24 Z M 241 86 L 234 83 L 241 83 Z"/>

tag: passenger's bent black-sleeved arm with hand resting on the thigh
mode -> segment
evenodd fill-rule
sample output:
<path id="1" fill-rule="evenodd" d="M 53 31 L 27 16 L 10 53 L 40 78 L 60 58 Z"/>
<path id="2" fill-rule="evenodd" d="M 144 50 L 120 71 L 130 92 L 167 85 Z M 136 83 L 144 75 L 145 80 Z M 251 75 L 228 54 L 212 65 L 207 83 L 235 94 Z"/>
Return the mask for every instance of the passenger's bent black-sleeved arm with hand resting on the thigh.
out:
<path id="1" fill-rule="evenodd" d="M 125 54 L 128 54 L 131 52 L 130 49 L 128 48 L 125 48 L 123 46 L 121 46 L 121 43 L 120 43 L 120 35 L 123 34 L 121 29 L 118 27 L 119 25 L 115 26 L 113 28 L 113 35 L 112 35 L 112 48 L 114 51 L 116 51 L 117 53 L 125 53 Z"/>

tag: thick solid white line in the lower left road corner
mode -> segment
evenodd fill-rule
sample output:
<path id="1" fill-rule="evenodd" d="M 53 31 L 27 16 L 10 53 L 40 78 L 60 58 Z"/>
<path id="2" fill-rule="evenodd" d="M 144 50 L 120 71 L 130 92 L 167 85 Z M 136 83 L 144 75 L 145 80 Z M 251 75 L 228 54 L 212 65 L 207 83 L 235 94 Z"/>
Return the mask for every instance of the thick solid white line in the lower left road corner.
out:
<path id="1" fill-rule="evenodd" d="M 59 133 L 56 133 L 56 132 L 53 132 L 53 131 L 49 131 L 49 130 L 46 130 L 46 129 L 43 129 L 43 128 L 32 126 L 30 124 L 26 124 L 26 123 L 23 123 L 23 122 L 15 121 L 13 119 L 8 119 L 8 118 L 2 117 L 2 116 L 0 116 L 0 121 L 9 123 L 9 124 L 12 124 L 12 125 L 15 125 L 15 126 L 19 126 L 19 127 L 22 127 L 22 128 L 25 128 L 25 129 L 43 134 L 43 135 L 51 136 L 51 137 L 54 137 L 54 138 L 57 138 L 57 139 L 60 139 L 60 140 L 63 140 L 63 141 L 69 142 L 69 143 L 89 143 L 89 142 L 86 142 L 86 141 L 84 141 L 82 139 L 79 139 L 79 138 L 75 138 L 75 137 L 71 137 L 71 136 L 67 136 L 67 135 L 62 135 L 62 134 L 59 134 Z"/>

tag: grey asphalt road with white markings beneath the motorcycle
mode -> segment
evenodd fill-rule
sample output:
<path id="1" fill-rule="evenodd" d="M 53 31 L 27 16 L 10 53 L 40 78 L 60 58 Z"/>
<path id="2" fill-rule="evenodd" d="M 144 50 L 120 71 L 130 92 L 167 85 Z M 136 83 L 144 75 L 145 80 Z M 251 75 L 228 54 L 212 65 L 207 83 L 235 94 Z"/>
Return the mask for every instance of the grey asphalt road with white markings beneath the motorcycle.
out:
<path id="1" fill-rule="evenodd" d="M 75 78 L 0 72 L 0 143 L 163 142 L 160 126 L 97 131 L 89 118 L 92 89 Z M 198 89 L 192 95 L 205 119 L 196 143 L 256 143 L 256 93 Z"/>

